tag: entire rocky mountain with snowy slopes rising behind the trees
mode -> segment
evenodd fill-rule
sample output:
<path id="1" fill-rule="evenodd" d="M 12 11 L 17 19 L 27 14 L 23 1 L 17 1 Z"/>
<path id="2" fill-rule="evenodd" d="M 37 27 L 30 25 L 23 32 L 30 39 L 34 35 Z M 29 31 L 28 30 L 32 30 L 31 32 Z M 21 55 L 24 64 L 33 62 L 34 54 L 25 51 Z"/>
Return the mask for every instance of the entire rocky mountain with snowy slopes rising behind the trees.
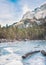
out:
<path id="1" fill-rule="evenodd" d="M 33 11 L 26 12 L 21 21 L 14 24 L 19 28 L 32 27 L 36 25 L 41 25 L 46 22 L 46 3 Z"/>

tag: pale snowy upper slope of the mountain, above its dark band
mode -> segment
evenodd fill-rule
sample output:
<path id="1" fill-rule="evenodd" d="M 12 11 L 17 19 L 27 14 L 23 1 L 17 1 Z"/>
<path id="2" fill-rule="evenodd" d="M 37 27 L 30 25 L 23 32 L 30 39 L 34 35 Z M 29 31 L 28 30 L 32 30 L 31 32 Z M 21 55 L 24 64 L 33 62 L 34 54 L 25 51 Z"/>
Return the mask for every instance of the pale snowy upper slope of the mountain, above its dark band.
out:
<path id="1" fill-rule="evenodd" d="M 42 6 L 34 9 L 34 11 L 28 11 L 26 14 L 24 14 L 22 19 L 33 19 L 34 17 L 36 19 L 44 18 L 46 16 L 46 3 Z"/>

